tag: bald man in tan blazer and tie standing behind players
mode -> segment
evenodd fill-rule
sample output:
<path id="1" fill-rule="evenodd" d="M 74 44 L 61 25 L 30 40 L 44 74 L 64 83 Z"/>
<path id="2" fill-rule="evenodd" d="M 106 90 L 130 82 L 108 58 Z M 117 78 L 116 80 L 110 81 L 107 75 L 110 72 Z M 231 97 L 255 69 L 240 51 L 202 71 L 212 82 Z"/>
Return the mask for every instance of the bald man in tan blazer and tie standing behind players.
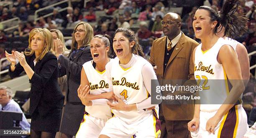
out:
<path id="1" fill-rule="evenodd" d="M 181 19 L 176 13 L 167 13 L 162 25 L 165 36 L 153 42 L 149 59 L 159 84 L 163 85 L 166 79 L 195 79 L 192 52 L 198 43 L 181 32 Z M 194 107 L 161 103 L 161 138 L 189 138 L 187 123 L 193 118 Z"/>

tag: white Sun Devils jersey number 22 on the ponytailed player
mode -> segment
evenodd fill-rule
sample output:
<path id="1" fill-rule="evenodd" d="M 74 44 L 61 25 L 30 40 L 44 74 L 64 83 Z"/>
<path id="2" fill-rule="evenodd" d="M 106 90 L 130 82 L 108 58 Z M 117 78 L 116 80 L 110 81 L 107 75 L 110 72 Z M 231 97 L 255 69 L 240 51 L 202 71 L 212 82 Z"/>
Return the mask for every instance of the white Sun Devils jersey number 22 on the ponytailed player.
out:
<path id="1" fill-rule="evenodd" d="M 196 47 L 194 74 L 197 84 L 203 89 L 200 91 L 201 111 L 218 110 L 229 93 L 225 70 L 217 61 L 219 50 L 225 44 L 229 45 L 229 42 L 220 37 L 212 48 L 205 52 L 202 51 L 202 44 Z"/>

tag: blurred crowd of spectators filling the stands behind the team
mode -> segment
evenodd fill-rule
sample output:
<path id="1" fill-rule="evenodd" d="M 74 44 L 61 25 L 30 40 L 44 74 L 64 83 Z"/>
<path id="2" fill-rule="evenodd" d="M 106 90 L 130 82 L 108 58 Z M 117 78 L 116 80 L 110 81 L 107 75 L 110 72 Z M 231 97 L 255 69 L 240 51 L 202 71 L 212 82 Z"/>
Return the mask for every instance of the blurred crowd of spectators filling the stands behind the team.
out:
<path id="1" fill-rule="evenodd" d="M 5 28 L 0 23 L 0 59 L 5 57 L 5 50 L 8 48 L 8 39 L 14 37 L 28 37 L 29 32 L 33 28 L 48 28 L 49 30 L 68 27 L 69 24 L 78 23 L 80 21 L 95 22 L 92 25 L 94 35 L 96 34 L 108 34 L 113 37 L 115 30 L 118 27 L 130 27 L 136 31 L 139 42 L 143 47 L 145 55 L 150 54 L 150 48 L 154 39 L 163 37 L 161 20 L 168 10 L 174 6 L 182 6 L 179 3 L 180 0 L 90 0 L 84 7 L 84 0 L 75 0 L 72 2 L 72 7 L 68 7 L 65 12 L 58 12 L 63 8 L 54 7 L 50 10 L 53 15 L 49 17 L 40 17 L 37 22 L 28 20 L 29 15 L 33 15 L 34 12 L 42 7 L 46 7 L 61 0 L 12 0 L 13 7 L 9 9 L 0 4 L 0 21 L 19 17 L 21 22 L 18 24 L 18 28 L 12 31 L 5 32 Z M 192 27 L 193 17 L 197 7 L 201 5 L 210 5 L 216 10 L 220 10 L 223 0 L 187 0 L 189 3 L 183 5 L 182 10 L 182 32 L 197 42 L 200 39 L 195 38 L 194 30 Z M 238 42 L 241 42 L 246 46 L 248 53 L 256 50 L 256 0 L 241 0 L 241 6 L 238 7 L 238 13 L 244 14 L 248 17 L 248 32 L 241 37 L 235 38 Z M 115 11 L 122 10 L 123 12 L 118 16 L 113 16 Z M 97 20 L 95 11 L 104 11 L 105 17 L 101 17 Z M 49 11 L 46 11 L 49 12 Z M 84 15 L 84 13 L 86 13 Z M 139 25 L 134 28 L 134 25 Z M 69 34 L 72 36 L 72 34 Z M 26 40 L 28 41 L 28 40 Z M 70 40 L 68 40 L 70 41 Z M 65 43 L 67 47 L 71 43 Z M 69 45 L 70 44 L 70 45 Z M 255 58 L 251 60 L 251 65 L 255 64 Z M 8 66 L 3 66 L 3 69 Z M 252 73 L 255 71 L 252 71 Z M 256 74 L 254 74 L 256 75 Z M 253 76 L 251 77 L 253 79 Z M 255 83 L 255 82 L 254 82 Z M 253 84 L 253 82 L 252 82 Z M 250 83 L 248 84 L 250 85 Z M 253 87 L 251 87 L 253 88 Z M 246 103 L 245 109 L 251 110 L 256 107 L 255 93 L 256 89 L 246 90 L 246 99 L 254 99 L 253 103 Z M 254 93 L 253 93 L 254 91 Z M 248 113 L 249 114 L 249 113 Z M 249 116 L 249 115 L 248 115 Z"/>

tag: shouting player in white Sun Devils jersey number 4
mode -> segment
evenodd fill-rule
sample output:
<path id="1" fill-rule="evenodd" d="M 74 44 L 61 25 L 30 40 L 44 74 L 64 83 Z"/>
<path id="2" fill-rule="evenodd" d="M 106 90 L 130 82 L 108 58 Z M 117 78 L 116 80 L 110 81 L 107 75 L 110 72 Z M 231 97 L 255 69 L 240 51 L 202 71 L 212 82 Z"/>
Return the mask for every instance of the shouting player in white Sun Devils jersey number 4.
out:
<path id="1" fill-rule="evenodd" d="M 108 103 L 115 116 L 99 138 L 159 138 L 158 105 L 151 104 L 152 65 L 143 57 L 135 33 L 128 28 L 115 31 L 113 48 L 118 58 L 106 65 L 117 102 Z M 149 98 L 148 98 L 149 97 Z M 153 110 L 146 108 L 156 106 Z"/>

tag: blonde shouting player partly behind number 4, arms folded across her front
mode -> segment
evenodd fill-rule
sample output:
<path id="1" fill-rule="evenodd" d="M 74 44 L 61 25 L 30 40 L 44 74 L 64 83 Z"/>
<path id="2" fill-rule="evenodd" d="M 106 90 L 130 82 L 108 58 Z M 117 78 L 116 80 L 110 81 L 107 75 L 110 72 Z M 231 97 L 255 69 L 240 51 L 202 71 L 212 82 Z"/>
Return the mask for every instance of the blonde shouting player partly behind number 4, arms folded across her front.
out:
<path id="1" fill-rule="evenodd" d="M 112 117 L 111 108 L 107 105 L 108 99 L 92 100 L 95 96 L 100 98 L 106 95 L 105 92 L 109 92 L 109 87 L 112 86 L 111 81 L 110 83 L 107 81 L 105 70 L 105 65 L 110 61 L 108 56 L 112 47 L 110 39 L 107 34 L 99 34 L 90 42 L 93 60 L 83 64 L 81 85 L 77 90 L 79 99 L 85 105 L 85 113 L 76 138 L 98 138 L 106 121 Z"/>

